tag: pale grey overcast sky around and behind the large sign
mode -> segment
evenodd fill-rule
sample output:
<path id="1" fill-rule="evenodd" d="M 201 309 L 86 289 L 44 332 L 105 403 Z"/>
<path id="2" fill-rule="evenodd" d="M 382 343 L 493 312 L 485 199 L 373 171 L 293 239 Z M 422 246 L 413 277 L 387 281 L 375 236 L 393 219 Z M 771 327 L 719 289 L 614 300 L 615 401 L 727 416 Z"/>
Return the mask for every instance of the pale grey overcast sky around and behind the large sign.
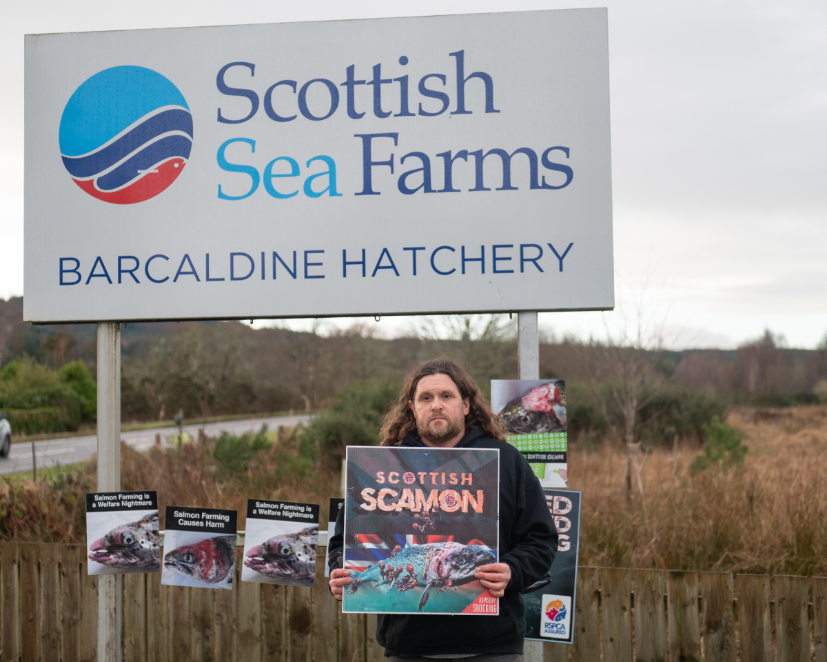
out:
<path id="1" fill-rule="evenodd" d="M 599 3 L 603 5 L 604 3 Z M 0 297 L 23 294 L 23 35 L 593 7 L 590 2 L 4 2 Z M 679 346 L 827 332 L 827 2 L 608 2 L 614 313 L 543 314 L 558 335 L 643 312 Z M 44 192 L 47 194 L 47 192 Z M 343 320 L 342 324 L 347 324 Z M 392 335 L 410 320 L 383 319 Z"/>

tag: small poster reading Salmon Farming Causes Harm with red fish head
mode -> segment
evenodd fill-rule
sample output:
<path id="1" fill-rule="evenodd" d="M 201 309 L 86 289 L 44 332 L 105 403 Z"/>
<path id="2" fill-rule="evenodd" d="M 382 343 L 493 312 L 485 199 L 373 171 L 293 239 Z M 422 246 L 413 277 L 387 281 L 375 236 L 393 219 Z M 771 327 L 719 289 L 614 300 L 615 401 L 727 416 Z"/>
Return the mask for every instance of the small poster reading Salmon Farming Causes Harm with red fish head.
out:
<path id="1" fill-rule="evenodd" d="M 160 583 L 232 590 L 237 511 L 166 506 Z"/>

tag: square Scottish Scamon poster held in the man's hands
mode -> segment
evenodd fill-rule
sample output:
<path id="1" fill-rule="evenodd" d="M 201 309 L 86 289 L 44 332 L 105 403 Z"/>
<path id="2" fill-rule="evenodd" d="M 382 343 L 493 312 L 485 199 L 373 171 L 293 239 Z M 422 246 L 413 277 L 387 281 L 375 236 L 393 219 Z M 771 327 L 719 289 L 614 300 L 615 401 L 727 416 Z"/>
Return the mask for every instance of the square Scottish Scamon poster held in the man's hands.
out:
<path id="1" fill-rule="evenodd" d="M 347 447 L 342 612 L 496 615 L 500 451 Z"/>

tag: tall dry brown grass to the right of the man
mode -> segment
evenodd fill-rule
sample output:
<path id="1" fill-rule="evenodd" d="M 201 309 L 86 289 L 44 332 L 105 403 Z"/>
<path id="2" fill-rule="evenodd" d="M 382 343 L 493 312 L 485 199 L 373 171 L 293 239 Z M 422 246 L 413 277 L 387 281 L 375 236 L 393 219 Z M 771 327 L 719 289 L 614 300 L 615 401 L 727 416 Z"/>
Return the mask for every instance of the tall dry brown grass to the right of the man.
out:
<path id="1" fill-rule="evenodd" d="M 691 477 L 697 448 L 657 449 L 634 458 L 631 498 L 621 449 L 571 452 L 581 565 L 827 574 L 827 407 L 727 421 L 748 446 L 743 466 Z"/>

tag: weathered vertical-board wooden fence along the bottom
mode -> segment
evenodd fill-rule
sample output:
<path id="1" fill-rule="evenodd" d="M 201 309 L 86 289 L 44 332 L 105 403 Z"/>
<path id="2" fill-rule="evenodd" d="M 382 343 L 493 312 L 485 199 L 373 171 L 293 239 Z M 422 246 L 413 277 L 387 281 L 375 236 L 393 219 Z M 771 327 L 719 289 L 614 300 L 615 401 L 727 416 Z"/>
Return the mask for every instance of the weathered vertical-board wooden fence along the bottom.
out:
<path id="1" fill-rule="evenodd" d="M 124 576 L 124 662 L 383 659 L 376 617 L 342 614 L 321 564 L 308 590 L 241 582 L 240 560 L 232 591 Z M 0 660 L 97 660 L 96 584 L 82 545 L 0 543 Z M 575 630 L 545 660 L 827 662 L 827 578 L 580 568 Z"/>

